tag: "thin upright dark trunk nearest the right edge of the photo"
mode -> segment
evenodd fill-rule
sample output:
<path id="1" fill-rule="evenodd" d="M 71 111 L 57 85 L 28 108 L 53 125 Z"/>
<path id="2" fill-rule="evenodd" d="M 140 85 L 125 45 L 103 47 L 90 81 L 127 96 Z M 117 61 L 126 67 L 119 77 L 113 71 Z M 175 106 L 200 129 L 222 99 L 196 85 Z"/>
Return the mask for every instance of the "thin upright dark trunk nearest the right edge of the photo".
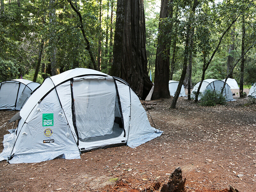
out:
<path id="1" fill-rule="evenodd" d="M 244 14 L 242 20 L 242 47 L 241 47 L 241 78 L 240 78 L 240 87 L 239 87 L 239 95 L 240 98 L 244 97 L 244 39 L 245 39 L 245 27 L 244 27 Z"/>

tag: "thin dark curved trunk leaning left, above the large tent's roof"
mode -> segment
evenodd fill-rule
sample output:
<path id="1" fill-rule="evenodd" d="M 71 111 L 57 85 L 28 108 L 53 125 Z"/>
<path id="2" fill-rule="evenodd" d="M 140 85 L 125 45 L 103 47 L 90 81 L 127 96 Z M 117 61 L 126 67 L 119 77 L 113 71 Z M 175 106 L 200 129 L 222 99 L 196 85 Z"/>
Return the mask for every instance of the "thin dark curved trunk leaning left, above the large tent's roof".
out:
<path id="1" fill-rule="evenodd" d="M 86 47 L 85 49 L 88 51 L 89 55 L 90 55 L 90 58 L 91 58 L 91 61 L 92 61 L 92 65 L 93 65 L 93 68 L 96 70 L 97 69 L 97 65 L 96 65 L 96 62 L 94 60 L 94 56 L 93 56 L 93 53 L 92 53 L 92 48 L 91 48 L 91 45 L 90 45 L 90 42 L 88 40 L 88 38 L 86 37 L 85 35 L 85 31 L 84 31 L 84 23 L 83 23 L 83 19 L 82 19 L 82 16 L 80 14 L 80 12 L 76 9 L 76 7 L 73 5 L 72 3 L 72 0 L 67 0 L 70 4 L 70 6 L 72 7 L 72 9 L 76 12 L 76 14 L 78 15 L 79 17 L 79 22 L 80 22 L 80 29 L 82 31 L 82 34 L 83 34 L 83 37 L 84 37 L 84 41 L 86 43 Z M 92 65 L 89 64 L 88 68 L 92 68 Z"/>

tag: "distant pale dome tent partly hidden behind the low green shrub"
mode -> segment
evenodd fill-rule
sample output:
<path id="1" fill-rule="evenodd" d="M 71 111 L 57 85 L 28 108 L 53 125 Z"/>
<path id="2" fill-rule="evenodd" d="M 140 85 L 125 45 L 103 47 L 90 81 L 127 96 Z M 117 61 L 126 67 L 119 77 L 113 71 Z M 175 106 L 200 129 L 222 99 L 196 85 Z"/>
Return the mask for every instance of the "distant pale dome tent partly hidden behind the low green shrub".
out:
<path id="1" fill-rule="evenodd" d="M 191 98 L 195 99 L 196 98 L 196 92 L 199 87 L 200 82 L 198 82 L 191 93 Z M 200 88 L 200 92 L 198 95 L 198 100 L 201 99 L 202 95 L 207 91 L 207 90 L 214 90 L 215 92 L 221 92 L 221 88 L 223 87 L 224 82 L 217 80 L 217 79 L 205 79 L 202 83 L 202 86 Z M 226 97 L 228 101 L 234 101 L 233 99 L 233 93 L 229 87 L 228 84 L 225 85 L 225 88 L 223 90 L 223 95 Z"/>

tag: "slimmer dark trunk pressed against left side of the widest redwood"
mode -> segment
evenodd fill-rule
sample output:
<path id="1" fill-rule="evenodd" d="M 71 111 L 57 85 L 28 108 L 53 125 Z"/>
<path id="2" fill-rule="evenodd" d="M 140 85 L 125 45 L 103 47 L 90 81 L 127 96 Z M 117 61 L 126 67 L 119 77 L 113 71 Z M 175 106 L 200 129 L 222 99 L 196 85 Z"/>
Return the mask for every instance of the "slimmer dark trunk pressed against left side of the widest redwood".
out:
<path id="1" fill-rule="evenodd" d="M 113 63 L 111 67 L 111 76 L 121 76 L 121 65 L 123 56 L 123 37 L 125 20 L 125 0 L 117 0 L 116 5 L 116 30 L 113 46 Z"/>

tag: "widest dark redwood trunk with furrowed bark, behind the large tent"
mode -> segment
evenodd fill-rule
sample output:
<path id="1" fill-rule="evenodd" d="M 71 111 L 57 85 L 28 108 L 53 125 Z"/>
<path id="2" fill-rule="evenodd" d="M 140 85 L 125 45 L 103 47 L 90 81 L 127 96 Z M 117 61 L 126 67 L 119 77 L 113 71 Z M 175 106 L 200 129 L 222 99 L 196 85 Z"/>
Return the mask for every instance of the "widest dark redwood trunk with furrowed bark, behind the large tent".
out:
<path id="1" fill-rule="evenodd" d="M 143 0 L 125 1 L 121 78 L 130 84 L 142 99 L 147 97 L 153 86 L 147 72 Z"/>

